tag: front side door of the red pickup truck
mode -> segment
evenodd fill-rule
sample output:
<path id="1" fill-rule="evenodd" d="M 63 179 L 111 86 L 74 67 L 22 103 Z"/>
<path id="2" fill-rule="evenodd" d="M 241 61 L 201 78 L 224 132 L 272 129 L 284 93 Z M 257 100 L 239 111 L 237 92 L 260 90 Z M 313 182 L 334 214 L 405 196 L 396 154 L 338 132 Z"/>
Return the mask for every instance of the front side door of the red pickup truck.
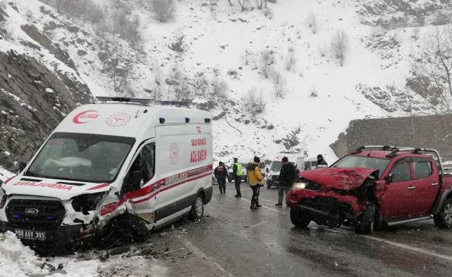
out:
<path id="1" fill-rule="evenodd" d="M 410 213 L 414 196 L 409 188 L 412 185 L 410 160 L 398 161 L 390 172 L 394 179 L 390 184 L 385 184 L 386 189 L 380 199 L 381 211 L 383 220 L 399 220 Z"/>

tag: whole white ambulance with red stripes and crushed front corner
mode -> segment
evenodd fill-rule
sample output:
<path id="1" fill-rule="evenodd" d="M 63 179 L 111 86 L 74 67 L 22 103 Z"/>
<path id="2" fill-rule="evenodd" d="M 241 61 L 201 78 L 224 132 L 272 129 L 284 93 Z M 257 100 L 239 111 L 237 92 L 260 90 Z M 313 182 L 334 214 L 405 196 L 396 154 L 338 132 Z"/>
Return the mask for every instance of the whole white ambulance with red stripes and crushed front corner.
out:
<path id="1" fill-rule="evenodd" d="M 98 100 L 64 118 L 1 186 L 0 231 L 48 245 L 103 233 L 118 219 L 142 235 L 187 214 L 202 217 L 212 197 L 209 113 Z"/>

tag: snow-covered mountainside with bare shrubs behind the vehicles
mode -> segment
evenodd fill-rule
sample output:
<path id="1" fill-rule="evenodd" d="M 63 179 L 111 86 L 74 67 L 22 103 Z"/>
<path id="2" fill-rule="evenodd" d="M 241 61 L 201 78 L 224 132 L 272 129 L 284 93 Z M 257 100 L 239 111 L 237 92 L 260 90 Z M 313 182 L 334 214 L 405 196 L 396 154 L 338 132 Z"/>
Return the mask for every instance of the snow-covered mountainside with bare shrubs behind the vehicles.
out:
<path id="1" fill-rule="evenodd" d="M 224 161 L 294 148 L 331 161 L 350 120 L 435 110 L 407 84 L 432 25 L 450 22 L 449 2 L 163 1 L 168 21 L 157 2 L 2 1 L 0 51 L 34 57 L 79 103 L 91 93 L 209 109 Z M 0 164 L 19 161 L 1 152 L 19 154 L 0 145 Z"/>

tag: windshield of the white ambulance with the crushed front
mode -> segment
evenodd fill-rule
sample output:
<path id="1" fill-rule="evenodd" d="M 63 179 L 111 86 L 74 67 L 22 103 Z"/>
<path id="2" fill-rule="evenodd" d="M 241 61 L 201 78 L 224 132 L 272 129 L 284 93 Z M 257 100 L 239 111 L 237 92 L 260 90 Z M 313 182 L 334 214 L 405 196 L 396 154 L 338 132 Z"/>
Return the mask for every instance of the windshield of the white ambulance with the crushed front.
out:
<path id="1" fill-rule="evenodd" d="M 135 139 L 98 134 L 55 133 L 26 176 L 110 183 L 116 179 Z"/>

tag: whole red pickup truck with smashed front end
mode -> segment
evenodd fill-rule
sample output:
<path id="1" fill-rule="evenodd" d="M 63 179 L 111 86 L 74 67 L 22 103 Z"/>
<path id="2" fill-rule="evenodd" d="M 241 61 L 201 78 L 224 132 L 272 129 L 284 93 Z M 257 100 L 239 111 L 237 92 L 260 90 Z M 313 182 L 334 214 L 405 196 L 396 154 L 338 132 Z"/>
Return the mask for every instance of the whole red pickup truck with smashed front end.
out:
<path id="1" fill-rule="evenodd" d="M 372 233 L 382 224 L 433 218 L 450 229 L 452 175 L 444 174 L 436 150 L 363 146 L 329 168 L 300 173 L 286 204 L 300 227 L 314 221 Z"/>

